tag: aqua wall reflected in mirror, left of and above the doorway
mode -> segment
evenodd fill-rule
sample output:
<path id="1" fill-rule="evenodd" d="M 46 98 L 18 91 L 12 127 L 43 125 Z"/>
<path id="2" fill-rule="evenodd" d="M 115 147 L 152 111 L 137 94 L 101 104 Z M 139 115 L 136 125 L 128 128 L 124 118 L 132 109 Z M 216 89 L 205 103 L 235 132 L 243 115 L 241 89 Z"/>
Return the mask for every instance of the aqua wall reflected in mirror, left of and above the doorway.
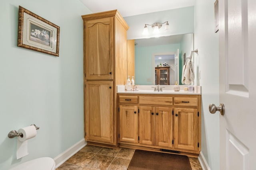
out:
<path id="1" fill-rule="evenodd" d="M 180 44 L 150 47 L 135 46 L 135 83 L 141 85 L 152 85 L 152 81 L 147 82 L 147 78 L 152 79 L 152 55 L 154 53 L 174 52 L 179 48 Z"/>

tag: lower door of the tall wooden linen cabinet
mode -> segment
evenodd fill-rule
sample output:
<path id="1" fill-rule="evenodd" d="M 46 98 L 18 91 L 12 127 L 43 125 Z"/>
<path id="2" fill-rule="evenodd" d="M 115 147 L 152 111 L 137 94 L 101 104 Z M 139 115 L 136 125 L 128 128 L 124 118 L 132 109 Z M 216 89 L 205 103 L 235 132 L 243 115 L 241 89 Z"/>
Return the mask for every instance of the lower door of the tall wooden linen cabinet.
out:
<path id="1" fill-rule="evenodd" d="M 86 82 L 86 141 L 114 143 L 113 82 Z"/>

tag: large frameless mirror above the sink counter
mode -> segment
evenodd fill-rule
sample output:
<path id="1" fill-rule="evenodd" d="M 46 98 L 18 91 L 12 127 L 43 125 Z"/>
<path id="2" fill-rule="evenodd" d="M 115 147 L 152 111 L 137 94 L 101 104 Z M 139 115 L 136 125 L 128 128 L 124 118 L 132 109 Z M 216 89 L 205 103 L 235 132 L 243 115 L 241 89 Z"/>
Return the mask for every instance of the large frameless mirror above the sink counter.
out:
<path id="1" fill-rule="evenodd" d="M 182 67 L 186 57 L 194 50 L 194 34 L 171 35 L 135 39 L 135 84 L 155 85 L 155 67 L 167 63 L 170 66 L 170 85 L 181 85 Z M 176 61 L 175 61 L 175 53 Z M 159 59 L 162 58 L 162 59 Z M 192 58 L 193 59 L 193 58 Z"/>

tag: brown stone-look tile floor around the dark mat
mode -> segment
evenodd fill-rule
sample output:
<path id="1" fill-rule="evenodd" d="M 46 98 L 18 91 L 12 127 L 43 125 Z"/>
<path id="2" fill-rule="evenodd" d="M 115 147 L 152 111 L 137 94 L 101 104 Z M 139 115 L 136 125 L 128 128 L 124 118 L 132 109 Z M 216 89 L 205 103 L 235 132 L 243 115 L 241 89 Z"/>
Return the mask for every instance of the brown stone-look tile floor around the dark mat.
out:
<path id="1" fill-rule="evenodd" d="M 127 170 L 134 151 L 86 145 L 56 170 Z M 189 161 L 192 170 L 202 170 L 198 158 Z"/>

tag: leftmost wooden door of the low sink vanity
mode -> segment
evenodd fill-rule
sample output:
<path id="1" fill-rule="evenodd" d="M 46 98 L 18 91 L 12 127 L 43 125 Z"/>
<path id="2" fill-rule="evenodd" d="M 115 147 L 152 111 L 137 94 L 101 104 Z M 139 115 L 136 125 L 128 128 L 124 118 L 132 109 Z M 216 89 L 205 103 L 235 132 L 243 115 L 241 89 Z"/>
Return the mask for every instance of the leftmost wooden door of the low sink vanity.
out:
<path id="1" fill-rule="evenodd" d="M 119 107 L 119 141 L 138 143 L 138 106 Z"/>

